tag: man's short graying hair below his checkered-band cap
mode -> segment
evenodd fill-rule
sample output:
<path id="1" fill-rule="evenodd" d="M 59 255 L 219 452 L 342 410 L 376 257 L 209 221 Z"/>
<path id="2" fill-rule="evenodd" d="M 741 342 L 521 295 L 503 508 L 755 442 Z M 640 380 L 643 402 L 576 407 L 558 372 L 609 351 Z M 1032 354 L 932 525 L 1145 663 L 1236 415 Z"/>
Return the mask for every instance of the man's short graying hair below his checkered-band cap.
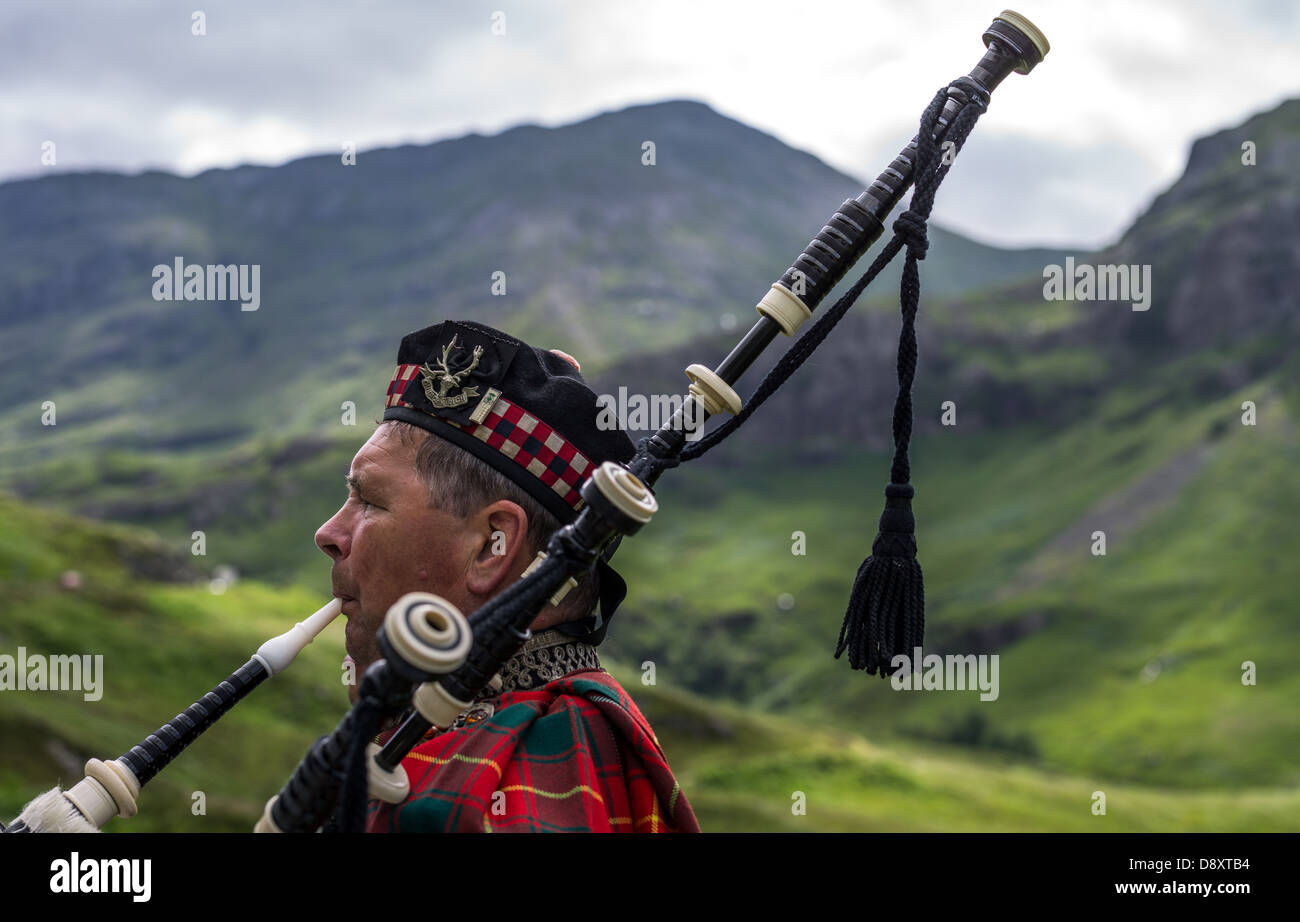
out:
<path id="1" fill-rule="evenodd" d="M 528 559 L 532 560 L 537 557 L 537 551 L 546 550 L 546 542 L 559 529 L 560 520 L 519 484 L 459 445 L 432 432 L 403 420 L 385 420 L 382 425 L 393 427 L 404 445 L 410 445 L 412 438 L 424 437 L 416 451 L 415 466 L 420 480 L 429 488 L 432 507 L 450 512 L 458 519 L 465 519 L 484 506 L 498 499 L 508 499 L 517 503 L 528 516 L 528 533 L 524 537 Z M 560 610 L 568 612 L 566 620 L 578 620 L 592 614 L 598 598 L 597 584 L 594 573 L 582 577 L 560 601 Z"/>

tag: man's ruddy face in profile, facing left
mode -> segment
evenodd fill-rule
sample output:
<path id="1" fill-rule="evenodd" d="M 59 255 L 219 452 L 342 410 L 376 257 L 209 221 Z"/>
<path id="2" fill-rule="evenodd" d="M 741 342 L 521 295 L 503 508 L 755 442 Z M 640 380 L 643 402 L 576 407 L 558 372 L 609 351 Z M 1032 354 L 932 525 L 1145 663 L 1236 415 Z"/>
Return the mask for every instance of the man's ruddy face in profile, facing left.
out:
<path id="1" fill-rule="evenodd" d="M 347 501 L 316 532 L 316 546 L 334 560 L 330 581 L 343 598 L 358 683 L 381 658 L 376 635 L 406 593 L 432 592 L 473 610 L 464 576 L 477 542 L 462 519 L 430 508 L 415 467 L 419 441 L 403 442 L 391 425 L 377 428 L 352 458 Z M 354 701 L 356 692 L 348 689 Z"/>

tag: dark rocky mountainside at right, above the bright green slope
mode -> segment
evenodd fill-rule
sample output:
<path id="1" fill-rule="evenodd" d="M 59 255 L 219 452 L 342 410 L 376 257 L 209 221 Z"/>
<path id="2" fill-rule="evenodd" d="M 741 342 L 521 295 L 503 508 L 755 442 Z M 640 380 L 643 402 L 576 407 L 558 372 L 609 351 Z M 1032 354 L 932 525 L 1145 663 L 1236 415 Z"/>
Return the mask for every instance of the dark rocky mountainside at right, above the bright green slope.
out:
<path id="1" fill-rule="evenodd" d="M 1247 142 L 1253 165 L 1243 163 Z M 1192 402 L 1300 355 L 1297 163 L 1300 100 L 1291 100 L 1197 140 L 1184 174 L 1119 242 L 1075 257 L 1139 270 L 1149 265 L 1147 311 L 1134 311 L 1127 300 L 1046 300 L 1043 268 L 1061 263 L 1060 254 L 1018 281 L 958 295 L 927 286 L 932 267 L 923 263 L 916 430 L 937 429 L 940 404 L 949 399 L 963 428 L 1060 420 L 1071 406 L 1082 408 L 1110 388 L 1162 369 L 1167 380 L 1153 386 L 1152 399 Z M 890 445 L 897 287 L 878 281 L 867 294 L 874 302 L 855 307 L 737 438 L 786 445 L 805 456 L 837 445 Z M 741 315 L 742 324 L 751 320 Z M 677 391 L 681 368 L 716 362 L 737 336 L 703 339 L 662 362 L 629 360 L 601 384 Z M 783 342 L 741 381 L 742 397 L 775 363 Z"/>

